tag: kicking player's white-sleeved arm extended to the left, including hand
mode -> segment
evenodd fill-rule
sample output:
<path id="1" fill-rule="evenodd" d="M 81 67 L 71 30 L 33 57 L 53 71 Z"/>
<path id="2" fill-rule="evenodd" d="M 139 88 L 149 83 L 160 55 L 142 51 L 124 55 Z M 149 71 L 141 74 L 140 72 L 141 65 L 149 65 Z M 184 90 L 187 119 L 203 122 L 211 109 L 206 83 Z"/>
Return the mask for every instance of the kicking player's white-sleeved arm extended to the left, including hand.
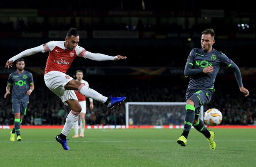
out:
<path id="1" fill-rule="evenodd" d="M 20 59 L 22 57 L 25 57 L 25 56 L 30 56 L 32 54 L 36 54 L 36 53 L 39 53 L 39 52 L 42 52 L 41 50 L 41 47 L 38 46 L 38 47 L 33 47 L 33 48 L 30 48 L 30 49 L 27 49 L 23 52 L 20 52 L 19 54 L 17 54 L 16 56 L 13 56 L 12 58 L 10 58 L 9 60 L 7 60 L 6 64 L 5 64 L 5 68 L 10 68 L 12 67 L 12 63 L 13 61 L 17 60 L 17 59 Z"/>

